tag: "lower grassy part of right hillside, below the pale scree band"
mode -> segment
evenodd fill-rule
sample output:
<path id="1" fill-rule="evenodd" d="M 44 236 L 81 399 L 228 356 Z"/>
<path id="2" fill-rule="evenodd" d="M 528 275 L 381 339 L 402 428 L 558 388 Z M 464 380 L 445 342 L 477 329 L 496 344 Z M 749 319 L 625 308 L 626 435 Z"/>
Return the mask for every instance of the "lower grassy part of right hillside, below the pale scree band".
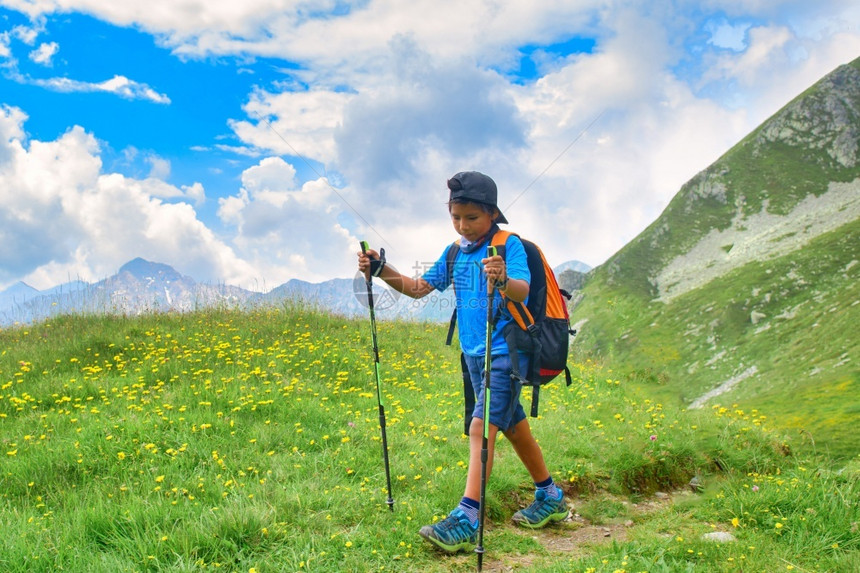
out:
<path id="1" fill-rule="evenodd" d="M 856 455 L 860 436 L 844 428 L 860 419 L 850 360 L 860 350 L 860 265 L 845 264 L 857 244 L 860 221 L 667 305 L 595 282 L 574 313 L 589 317 L 577 345 L 611 356 L 616 369 L 680 404 L 755 366 L 712 403 L 758 408 L 836 455 Z M 765 318 L 753 324 L 753 312 Z"/>

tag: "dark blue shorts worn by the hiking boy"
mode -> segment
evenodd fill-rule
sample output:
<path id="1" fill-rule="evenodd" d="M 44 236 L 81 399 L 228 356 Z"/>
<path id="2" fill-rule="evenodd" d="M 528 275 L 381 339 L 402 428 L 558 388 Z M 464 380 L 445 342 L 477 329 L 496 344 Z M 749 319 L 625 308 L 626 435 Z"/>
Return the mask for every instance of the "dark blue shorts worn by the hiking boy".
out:
<path id="1" fill-rule="evenodd" d="M 484 357 L 464 355 L 466 367 L 472 388 L 475 389 L 474 418 L 484 419 Z M 517 355 L 520 360 L 520 372 L 528 372 L 529 357 Z M 522 384 L 511 384 L 511 359 L 507 354 L 492 357 L 490 368 L 490 423 L 505 432 L 522 420 L 526 413 L 520 404 Z M 513 407 L 511 407 L 513 404 Z"/>

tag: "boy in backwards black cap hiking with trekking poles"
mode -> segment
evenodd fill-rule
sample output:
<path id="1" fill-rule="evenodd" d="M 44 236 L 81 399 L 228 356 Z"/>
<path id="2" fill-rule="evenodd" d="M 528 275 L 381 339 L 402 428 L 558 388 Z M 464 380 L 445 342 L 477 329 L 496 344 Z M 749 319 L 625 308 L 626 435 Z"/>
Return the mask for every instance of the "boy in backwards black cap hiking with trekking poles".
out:
<path id="1" fill-rule="evenodd" d="M 481 449 L 484 417 L 484 364 L 487 328 L 487 281 L 492 280 L 496 291 L 506 297 L 525 302 L 529 294 L 529 269 L 522 243 L 516 236 L 508 238 L 506 256 L 486 257 L 490 237 L 499 223 L 507 223 L 497 205 L 495 182 L 483 173 L 461 172 L 448 180 L 448 212 L 454 230 L 460 235 L 460 252 L 453 272 L 449 272 L 445 252 L 433 267 L 421 277 L 407 277 L 387 265 L 375 251 L 359 253 L 358 268 L 369 268 L 374 276 L 391 288 L 412 298 L 427 296 L 434 290 L 443 291 L 453 282 L 457 297 L 457 318 L 460 323 L 460 346 L 475 390 L 476 404 L 469 427 L 469 469 L 466 487 L 460 503 L 442 521 L 426 525 L 418 532 L 428 542 L 450 553 L 471 550 L 478 536 L 481 493 Z M 447 251 L 447 249 L 446 249 Z M 479 263 L 479 264 L 477 264 Z M 483 270 L 481 269 L 483 266 Z M 496 292 L 494 306 L 504 309 Z M 528 418 L 519 402 L 521 385 L 511 384 L 511 360 L 519 360 L 519 371 L 528 372 L 528 356 L 509 356 L 502 335 L 505 324 L 512 319 L 502 311 L 492 334 L 492 365 L 490 374 L 490 424 L 488 436 L 487 479 L 492 470 L 493 451 L 499 430 L 513 445 L 523 465 L 535 483 L 535 501 L 517 511 L 514 523 L 539 528 L 567 516 L 564 494 L 550 476 L 540 446 L 532 436 Z"/>

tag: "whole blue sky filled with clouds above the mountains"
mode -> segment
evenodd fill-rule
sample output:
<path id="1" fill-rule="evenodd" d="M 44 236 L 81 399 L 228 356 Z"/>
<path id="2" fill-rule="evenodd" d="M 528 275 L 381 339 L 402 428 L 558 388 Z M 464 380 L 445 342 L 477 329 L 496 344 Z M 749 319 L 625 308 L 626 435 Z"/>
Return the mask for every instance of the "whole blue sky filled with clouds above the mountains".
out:
<path id="1" fill-rule="evenodd" d="M 268 290 L 360 239 L 408 270 L 471 169 L 600 264 L 860 56 L 856 4 L 0 0 L 0 290 L 135 257 Z"/>

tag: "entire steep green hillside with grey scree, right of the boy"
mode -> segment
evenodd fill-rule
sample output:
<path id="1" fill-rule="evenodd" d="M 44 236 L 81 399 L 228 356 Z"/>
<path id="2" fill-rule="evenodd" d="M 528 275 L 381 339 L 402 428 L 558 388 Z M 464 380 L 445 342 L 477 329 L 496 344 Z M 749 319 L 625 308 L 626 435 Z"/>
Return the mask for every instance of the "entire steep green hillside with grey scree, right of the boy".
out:
<path id="1" fill-rule="evenodd" d="M 798 96 L 591 273 L 579 351 L 686 406 L 860 453 L 860 60 Z"/>

